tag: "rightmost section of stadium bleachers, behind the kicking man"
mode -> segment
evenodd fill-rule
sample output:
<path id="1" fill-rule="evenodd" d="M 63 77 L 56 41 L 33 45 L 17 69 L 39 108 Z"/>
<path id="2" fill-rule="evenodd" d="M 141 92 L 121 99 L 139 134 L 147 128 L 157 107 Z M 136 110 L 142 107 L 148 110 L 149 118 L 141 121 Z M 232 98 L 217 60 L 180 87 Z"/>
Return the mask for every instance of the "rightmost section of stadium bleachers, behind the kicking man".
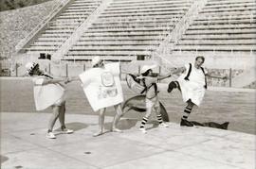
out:
<path id="1" fill-rule="evenodd" d="M 254 0 L 209 0 L 174 52 L 255 52 L 255 5 Z"/>

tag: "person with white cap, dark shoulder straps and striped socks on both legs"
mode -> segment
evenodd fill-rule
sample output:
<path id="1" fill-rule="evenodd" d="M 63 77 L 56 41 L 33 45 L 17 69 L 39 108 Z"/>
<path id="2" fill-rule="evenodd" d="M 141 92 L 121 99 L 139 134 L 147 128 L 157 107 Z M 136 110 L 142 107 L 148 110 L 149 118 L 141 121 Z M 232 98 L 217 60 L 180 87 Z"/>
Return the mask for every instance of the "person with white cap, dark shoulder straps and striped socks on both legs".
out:
<path id="1" fill-rule="evenodd" d="M 157 85 L 156 82 L 158 80 L 162 80 L 164 78 L 167 78 L 171 76 L 171 74 L 167 76 L 153 76 L 153 70 L 156 67 L 156 65 L 144 65 L 141 68 L 140 76 L 137 76 L 137 78 L 140 78 L 145 86 L 145 103 L 146 103 L 146 114 L 142 118 L 141 125 L 139 127 L 139 130 L 141 130 L 143 133 L 147 133 L 145 125 L 148 122 L 148 119 L 150 115 L 152 114 L 152 111 L 155 110 L 156 117 L 159 123 L 159 127 L 168 127 L 167 124 L 163 122 L 162 115 L 160 114 L 160 104 L 158 99 L 158 91 L 157 91 Z"/>

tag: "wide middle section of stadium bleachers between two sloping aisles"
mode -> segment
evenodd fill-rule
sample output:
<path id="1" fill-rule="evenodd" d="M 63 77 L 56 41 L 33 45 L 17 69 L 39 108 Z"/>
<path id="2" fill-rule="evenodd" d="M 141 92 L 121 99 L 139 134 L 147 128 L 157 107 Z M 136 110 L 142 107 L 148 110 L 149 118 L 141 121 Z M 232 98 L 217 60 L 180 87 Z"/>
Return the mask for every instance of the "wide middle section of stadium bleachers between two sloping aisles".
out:
<path id="1" fill-rule="evenodd" d="M 114 0 L 64 59 L 145 59 L 192 5 L 188 0 Z"/>

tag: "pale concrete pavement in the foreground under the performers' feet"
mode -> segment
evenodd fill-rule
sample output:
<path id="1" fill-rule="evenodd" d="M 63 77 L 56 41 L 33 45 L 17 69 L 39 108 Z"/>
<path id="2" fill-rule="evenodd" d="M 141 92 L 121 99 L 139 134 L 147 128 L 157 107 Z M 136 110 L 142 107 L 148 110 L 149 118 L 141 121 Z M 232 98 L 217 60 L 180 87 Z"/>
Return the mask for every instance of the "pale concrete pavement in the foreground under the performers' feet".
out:
<path id="1" fill-rule="evenodd" d="M 46 139 L 50 113 L 1 112 L 1 168 L 162 168 L 253 169 L 255 135 L 210 127 L 157 127 L 138 130 L 138 119 L 121 119 L 122 133 L 99 137 L 97 115 L 66 114 L 73 134 Z M 113 117 L 107 116 L 105 127 Z M 58 133 L 57 122 L 55 128 Z"/>

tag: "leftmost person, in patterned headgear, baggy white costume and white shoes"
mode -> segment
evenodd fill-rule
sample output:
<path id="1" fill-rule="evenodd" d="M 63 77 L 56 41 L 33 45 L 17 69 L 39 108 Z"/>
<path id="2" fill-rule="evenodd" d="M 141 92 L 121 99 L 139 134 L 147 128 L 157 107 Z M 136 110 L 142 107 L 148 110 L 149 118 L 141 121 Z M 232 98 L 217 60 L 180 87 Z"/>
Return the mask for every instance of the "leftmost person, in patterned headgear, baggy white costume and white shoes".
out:
<path id="1" fill-rule="evenodd" d="M 35 62 L 28 62 L 26 69 L 27 74 L 33 77 L 36 110 L 46 110 L 48 107 L 52 108 L 52 115 L 49 119 L 46 137 L 49 139 L 56 138 L 52 129 L 57 118 L 60 120 L 62 133 L 73 133 L 73 130 L 67 129 L 64 125 L 65 92 L 64 84 L 61 82 L 67 83 L 68 81 L 64 79 L 54 79 L 52 76 L 46 75 L 39 69 L 39 64 Z"/>

